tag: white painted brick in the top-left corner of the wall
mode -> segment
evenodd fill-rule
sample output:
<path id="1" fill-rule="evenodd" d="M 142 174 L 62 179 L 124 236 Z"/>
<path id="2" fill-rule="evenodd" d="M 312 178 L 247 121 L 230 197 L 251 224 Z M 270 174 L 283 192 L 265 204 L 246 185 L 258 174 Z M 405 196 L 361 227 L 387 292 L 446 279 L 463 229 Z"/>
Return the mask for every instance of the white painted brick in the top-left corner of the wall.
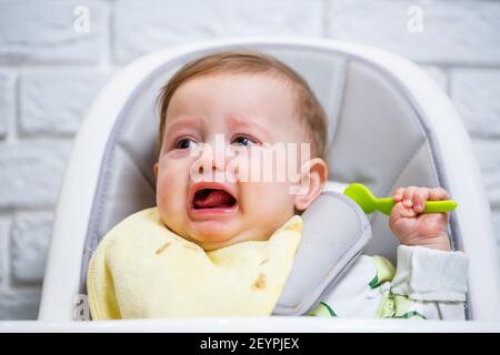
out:
<path id="1" fill-rule="evenodd" d="M 108 1 L 3 0 L 0 2 L 0 63 L 99 64 L 106 53 Z M 73 11 L 90 10 L 90 32 L 73 30 Z"/>

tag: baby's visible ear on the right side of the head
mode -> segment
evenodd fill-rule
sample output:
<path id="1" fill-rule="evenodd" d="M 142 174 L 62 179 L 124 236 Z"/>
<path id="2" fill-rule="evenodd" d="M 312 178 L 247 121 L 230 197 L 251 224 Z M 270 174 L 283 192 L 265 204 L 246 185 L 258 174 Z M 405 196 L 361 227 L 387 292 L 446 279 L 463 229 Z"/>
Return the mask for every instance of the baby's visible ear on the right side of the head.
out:
<path id="1" fill-rule="evenodd" d="M 309 207 L 323 191 L 327 180 L 328 166 L 322 159 L 314 158 L 306 162 L 300 173 L 301 191 L 296 195 L 296 210 L 304 211 Z"/>

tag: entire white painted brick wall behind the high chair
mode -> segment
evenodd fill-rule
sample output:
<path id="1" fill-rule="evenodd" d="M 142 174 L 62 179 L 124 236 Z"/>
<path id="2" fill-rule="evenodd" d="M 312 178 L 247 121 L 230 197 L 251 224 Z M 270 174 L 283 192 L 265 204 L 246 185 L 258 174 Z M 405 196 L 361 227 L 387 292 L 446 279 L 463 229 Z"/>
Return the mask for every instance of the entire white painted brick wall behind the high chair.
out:
<path id="1" fill-rule="evenodd" d="M 89 32 L 74 30 L 78 6 Z M 407 29 L 411 6 L 423 32 Z M 472 136 L 500 244 L 500 1 L 0 0 L 0 320 L 37 316 L 71 140 L 112 72 L 163 47 L 252 34 L 351 40 L 420 63 Z"/>

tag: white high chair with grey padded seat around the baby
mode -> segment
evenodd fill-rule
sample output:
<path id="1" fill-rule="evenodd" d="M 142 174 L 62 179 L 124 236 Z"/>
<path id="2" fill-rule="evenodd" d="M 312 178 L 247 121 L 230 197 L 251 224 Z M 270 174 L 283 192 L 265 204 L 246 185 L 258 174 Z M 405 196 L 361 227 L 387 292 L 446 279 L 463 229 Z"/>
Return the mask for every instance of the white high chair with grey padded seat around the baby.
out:
<path id="1" fill-rule="evenodd" d="M 378 196 L 396 186 L 443 186 L 456 250 L 470 256 L 467 316 L 483 322 L 310 317 L 73 322 L 89 251 L 116 223 L 154 205 L 156 98 L 187 61 L 234 48 L 268 52 L 302 74 L 329 115 L 330 180 Z M 366 253 L 394 258 L 387 216 L 369 216 Z M 57 205 L 39 322 L 69 331 L 477 331 L 499 329 L 500 275 L 488 199 L 469 136 L 449 98 L 413 63 L 372 48 L 317 39 L 233 39 L 168 48 L 121 70 L 98 95 L 73 144 Z M 491 323 L 494 322 L 494 323 Z M 12 325 L 12 324 L 11 324 Z"/>

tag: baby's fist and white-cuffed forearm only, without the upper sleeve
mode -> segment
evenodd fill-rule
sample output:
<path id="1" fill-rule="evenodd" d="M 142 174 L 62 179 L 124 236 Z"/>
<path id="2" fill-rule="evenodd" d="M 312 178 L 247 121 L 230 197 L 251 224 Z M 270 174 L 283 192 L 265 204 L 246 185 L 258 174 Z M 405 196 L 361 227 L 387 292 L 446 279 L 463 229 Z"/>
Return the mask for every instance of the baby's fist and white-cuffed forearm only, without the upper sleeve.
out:
<path id="1" fill-rule="evenodd" d="M 450 195 L 441 187 L 410 186 L 398 189 L 393 199 L 389 226 L 402 245 L 391 293 L 408 297 L 413 306 L 432 311 L 439 318 L 463 317 L 468 257 L 450 251 L 448 213 L 419 214 L 428 200 L 448 200 Z"/>

